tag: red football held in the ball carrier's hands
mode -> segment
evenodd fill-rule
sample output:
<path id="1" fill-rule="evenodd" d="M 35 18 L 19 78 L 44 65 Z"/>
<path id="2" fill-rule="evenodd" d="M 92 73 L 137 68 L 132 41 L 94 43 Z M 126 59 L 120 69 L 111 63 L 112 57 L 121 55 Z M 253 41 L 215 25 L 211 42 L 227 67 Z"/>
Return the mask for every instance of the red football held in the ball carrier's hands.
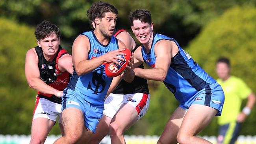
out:
<path id="1" fill-rule="evenodd" d="M 121 51 L 121 52 L 125 53 L 126 55 L 117 55 L 118 57 L 121 57 L 121 58 L 124 59 L 124 61 L 121 61 L 121 60 L 117 59 L 117 61 L 120 65 L 117 65 L 114 62 L 106 63 L 106 65 L 105 65 L 105 74 L 108 77 L 119 76 L 120 74 L 122 74 L 122 72 L 124 72 L 124 70 L 126 70 L 126 65 L 129 64 L 128 60 L 130 60 L 130 56 L 132 55 L 132 53 L 128 49 L 125 49 L 124 51 Z"/>

